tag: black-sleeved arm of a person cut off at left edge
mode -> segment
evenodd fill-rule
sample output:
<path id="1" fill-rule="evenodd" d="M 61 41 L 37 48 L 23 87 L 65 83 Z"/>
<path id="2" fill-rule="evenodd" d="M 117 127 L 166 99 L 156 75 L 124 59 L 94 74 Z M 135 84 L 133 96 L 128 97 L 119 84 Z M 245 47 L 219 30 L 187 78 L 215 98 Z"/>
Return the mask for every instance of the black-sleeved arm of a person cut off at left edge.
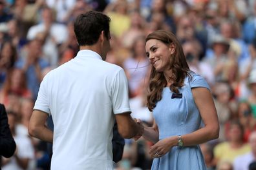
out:
<path id="1" fill-rule="evenodd" d="M 9 158 L 14 155 L 15 150 L 16 143 L 10 132 L 5 106 L 0 104 L 0 156 Z"/>

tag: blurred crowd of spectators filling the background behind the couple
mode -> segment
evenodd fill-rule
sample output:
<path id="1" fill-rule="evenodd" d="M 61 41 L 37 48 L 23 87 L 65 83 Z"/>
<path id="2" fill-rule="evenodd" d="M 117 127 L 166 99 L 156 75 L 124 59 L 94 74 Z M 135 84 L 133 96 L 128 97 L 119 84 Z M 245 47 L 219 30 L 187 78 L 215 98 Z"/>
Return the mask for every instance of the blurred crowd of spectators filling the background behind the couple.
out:
<path id="1" fill-rule="evenodd" d="M 2 158 L 3 170 L 49 169 L 49 147 L 29 137 L 28 121 L 45 74 L 76 56 L 73 22 L 88 10 L 111 17 L 107 62 L 125 70 L 133 117 L 153 123 L 145 106 L 151 70 L 145 36 L 171 30 L 215 100 L 220 137 L 201 145 L 208 169 L 255 169 L 255 0 L 0 0 L 0 102 L 17 144 L 14 156 Z M 115 169 L 150 169 L 152 145 L 125 140 Z"/>

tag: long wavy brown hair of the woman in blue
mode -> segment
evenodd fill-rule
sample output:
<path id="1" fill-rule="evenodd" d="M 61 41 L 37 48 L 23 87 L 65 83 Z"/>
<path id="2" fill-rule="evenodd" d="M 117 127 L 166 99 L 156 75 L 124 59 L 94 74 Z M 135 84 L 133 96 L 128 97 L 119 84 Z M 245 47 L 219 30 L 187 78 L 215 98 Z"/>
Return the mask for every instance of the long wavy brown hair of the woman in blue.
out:
<path id="1" fill-rule="evenodd" d="M 173 72 L 173 76 L 169 79 L 173 82 L 169 87 L 174 93 L 178 93 L 178 88 L 184 85 L 184 79 L 189 75 L 189 66 L 187 65 L 186 57 L 182 50 L 182 46 L 176 36 L 167 30 L 157 30 L 147 35 L 145 42 L 150 39 L 156 39 L 164 42 L 167 46 L 171 44 L 175 45 L 175 53 L 170 54 L 170 69 Z M 154 66 L 151 66 L 151 74 L 149 80 L 149 93 L 147 95 L 147 107 L 150 111 L 156 107 L 156 102 L 162 99 L 162 91 L 167 85 L 163 72 L 155 70 Z"/>

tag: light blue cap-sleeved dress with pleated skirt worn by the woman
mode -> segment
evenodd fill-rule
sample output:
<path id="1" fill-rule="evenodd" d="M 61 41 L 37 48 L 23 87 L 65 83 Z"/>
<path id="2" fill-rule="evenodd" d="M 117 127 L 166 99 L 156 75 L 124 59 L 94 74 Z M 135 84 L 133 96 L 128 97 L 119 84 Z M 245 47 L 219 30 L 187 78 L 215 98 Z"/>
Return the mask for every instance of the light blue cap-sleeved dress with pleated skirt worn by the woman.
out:
<path id="1" fill-rule="evenodd" d="M 196 131 L 201 124 L 201 116 L 193 99 L 191 88 L 208 88 L 206 80 L 200 75 L 190 73 L 192 79 L 186 77 L 184 86 L 179 88 L 182 98 L 171 99 L 173 94 L 169 87 L 164 88 L 162 100 L 156 103 L 153 116 L 159 129 L 159 140 L 167 137 L 185 135 Z M 155 158 L 153 170 L 204 170 L 206 164 L 199 146 L 172 147 L 160 158 Z"/>

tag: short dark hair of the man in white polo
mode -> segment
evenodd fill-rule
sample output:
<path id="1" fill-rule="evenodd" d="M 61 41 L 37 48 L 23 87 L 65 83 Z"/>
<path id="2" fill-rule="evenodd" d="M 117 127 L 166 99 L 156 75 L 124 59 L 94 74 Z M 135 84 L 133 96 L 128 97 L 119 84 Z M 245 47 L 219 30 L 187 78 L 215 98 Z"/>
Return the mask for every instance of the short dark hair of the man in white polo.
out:
<path id="1" fill-rule="evenodd" d="M 93 45 L 99 37 L 101 31 L 104 31 L 104 35 L 109 39 L 109 23 L 111 19 L 96 11 L 89 11 L 85 14 L 80 14 L 74 22 L 74 32 L 76 33 L 76 39 L 80 46 Z"/>

